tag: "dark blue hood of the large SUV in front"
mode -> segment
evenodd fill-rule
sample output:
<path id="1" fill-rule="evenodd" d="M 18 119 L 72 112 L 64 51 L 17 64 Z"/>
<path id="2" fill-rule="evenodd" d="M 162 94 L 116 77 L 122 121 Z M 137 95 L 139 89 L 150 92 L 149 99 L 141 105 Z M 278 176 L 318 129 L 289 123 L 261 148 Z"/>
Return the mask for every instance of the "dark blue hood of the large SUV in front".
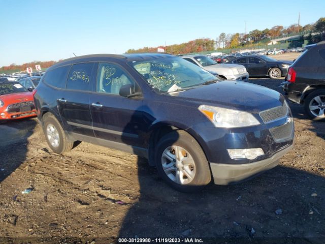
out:
<path id="1" fill-rule="evenodd" d="M 199 86 L 171 96 L 200 105 L 219 106 L 258 113 L 281 106 L 284 97 L 275 90 L 243 81 L 224 80 Z"/>

